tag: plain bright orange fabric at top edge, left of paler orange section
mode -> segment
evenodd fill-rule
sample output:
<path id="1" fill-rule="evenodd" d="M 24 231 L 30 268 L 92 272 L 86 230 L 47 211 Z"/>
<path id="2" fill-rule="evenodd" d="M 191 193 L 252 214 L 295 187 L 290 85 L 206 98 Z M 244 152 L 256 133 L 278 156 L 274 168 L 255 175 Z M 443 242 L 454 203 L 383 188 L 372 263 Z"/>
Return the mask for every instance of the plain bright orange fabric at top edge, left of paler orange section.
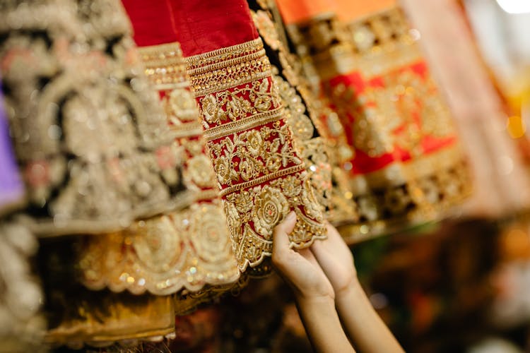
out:
<path id="1" fill-rule="evenodd" d="M 276 0 L 286 25 L 309 20 L 322 13 L 336 12 L 334 0 Z"/>

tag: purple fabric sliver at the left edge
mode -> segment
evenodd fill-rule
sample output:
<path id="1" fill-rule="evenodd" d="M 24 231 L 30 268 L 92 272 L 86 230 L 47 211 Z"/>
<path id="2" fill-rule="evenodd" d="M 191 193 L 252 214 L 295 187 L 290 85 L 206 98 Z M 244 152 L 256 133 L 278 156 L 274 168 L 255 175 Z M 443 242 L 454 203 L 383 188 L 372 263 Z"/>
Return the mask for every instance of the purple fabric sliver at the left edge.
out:
<path id="1" fill-rule="evenodd" d="M 18 174 L 18 166 L 13 155 L 0 86 L 0 211 L 13 203 L 18 203 L 23 196 L 24 185 Z"/>

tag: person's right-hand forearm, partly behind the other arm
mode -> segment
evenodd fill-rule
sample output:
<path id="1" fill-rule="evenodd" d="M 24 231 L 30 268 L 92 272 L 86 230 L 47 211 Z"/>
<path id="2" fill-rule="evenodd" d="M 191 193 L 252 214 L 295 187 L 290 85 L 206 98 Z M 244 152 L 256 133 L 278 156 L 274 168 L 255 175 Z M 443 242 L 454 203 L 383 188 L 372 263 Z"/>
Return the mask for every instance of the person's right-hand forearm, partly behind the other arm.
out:
<path id="1" fill-rule="evenodd" d="M 335 302 L 346 332 L 360 352 L 404 352 L 357 280 L 336 293 Z"/>

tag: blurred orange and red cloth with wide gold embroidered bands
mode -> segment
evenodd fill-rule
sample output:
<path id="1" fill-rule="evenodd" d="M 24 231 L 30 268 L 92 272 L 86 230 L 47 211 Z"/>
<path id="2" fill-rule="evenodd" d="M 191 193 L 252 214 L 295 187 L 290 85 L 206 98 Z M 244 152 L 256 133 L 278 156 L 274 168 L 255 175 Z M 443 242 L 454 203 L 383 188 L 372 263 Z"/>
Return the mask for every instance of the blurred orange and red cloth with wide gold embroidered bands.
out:
<path id="1" fill-rule="evenodd" d="M 298 54 L 318 76 L 314 89 L 329 98 L 355 152 L 343 168 L 360 222 L 340 229 L 352 241 L 437 220 L 471 192 L 416 32 L 395 2 L 375 3 L 278 1 Z"/>

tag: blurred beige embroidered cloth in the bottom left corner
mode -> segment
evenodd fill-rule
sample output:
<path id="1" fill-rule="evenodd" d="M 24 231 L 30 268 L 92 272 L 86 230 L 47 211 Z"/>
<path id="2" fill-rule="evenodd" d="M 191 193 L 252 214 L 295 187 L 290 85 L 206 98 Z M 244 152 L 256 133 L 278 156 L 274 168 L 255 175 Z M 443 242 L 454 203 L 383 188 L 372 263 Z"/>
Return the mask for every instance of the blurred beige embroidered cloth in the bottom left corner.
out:
<path id="1" fill-rule="evenodd" d="M 0 352 L 43 352 L 42 289 L 31 273 L 37 239 L 13 222 L 0 223 Z"/>

